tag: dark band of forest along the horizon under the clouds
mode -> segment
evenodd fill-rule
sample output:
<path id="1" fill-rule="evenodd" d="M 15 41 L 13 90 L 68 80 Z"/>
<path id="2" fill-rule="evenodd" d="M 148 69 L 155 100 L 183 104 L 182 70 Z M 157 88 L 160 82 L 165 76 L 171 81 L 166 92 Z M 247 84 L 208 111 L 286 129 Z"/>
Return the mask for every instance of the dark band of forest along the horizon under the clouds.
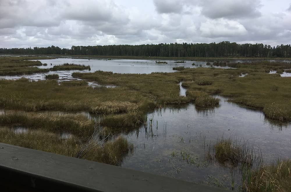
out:
<path id="1" fill-rule="evenodd" d="M 290 45 L 270 46 L 262 43 L 170 43 L 157 45 L 96 45 L 60 47 L 0 48 L 0 54 L 144 56 L 144 57 L 291 57 Z"/>

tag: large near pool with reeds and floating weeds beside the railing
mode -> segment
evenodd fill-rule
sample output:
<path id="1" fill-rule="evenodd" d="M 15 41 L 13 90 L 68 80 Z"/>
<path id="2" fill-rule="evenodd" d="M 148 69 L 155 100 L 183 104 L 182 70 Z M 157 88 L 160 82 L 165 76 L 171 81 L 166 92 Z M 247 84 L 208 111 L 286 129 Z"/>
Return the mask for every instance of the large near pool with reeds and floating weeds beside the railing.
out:
<path id="1" fill-rule="evenodd" d="M 214 109 L 197 109 L 194 104 L 189 104 L 180 109 L 168 107 L 149 113 L 148 118 L 153 118 L 150 134 L 148 129 L 141 127 L 139 131 L 125 135 L 135 144 L 136 149 L 122 166 L 192 182 L 203 182 L 207 175 L 227 180 L 230 179 L 229 168 L 217 163 L 205 163 L 207 144 L 211 142 L 213 145 L 222 135 L 225 138 L 231 136 L 235 140 L 243 138 L 251 144 L 259 145 L 265 163 L 290 157 L 289 123 L 270 121 L 260 110 L 245 108 L 225 101 L 224 97 L 216 97 L 220 99 L 220 105 Z M 181 150 L 189 151 L 200 163 L 199 166 L 188 165 L 180 157 L 171 157 L 173 151 L 181 156 Z"/>

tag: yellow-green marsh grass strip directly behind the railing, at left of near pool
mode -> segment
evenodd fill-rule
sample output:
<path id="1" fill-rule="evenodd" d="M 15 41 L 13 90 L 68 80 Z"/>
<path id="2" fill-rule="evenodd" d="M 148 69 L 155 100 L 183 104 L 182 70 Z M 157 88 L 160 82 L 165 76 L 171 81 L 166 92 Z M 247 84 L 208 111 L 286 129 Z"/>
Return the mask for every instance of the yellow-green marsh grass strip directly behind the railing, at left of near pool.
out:
<path id="1" fill-rule="evenodd" d="M 101 142 L 92 140 L 90 136 L 80 140 L 78 137 L 62 139 L 56 133 L 45 130 L 28 130 L 25 133 L 15 133 L 10 128 L 1 127 L 0 142 L 70 157 L 85 158 L 91 161 L 119 166 L 129 152 L 133 152 L 133 143 L 119 136 L 112 141 Z M 85 155 L 78 156 L 78 149 L 91 142 Z"/>

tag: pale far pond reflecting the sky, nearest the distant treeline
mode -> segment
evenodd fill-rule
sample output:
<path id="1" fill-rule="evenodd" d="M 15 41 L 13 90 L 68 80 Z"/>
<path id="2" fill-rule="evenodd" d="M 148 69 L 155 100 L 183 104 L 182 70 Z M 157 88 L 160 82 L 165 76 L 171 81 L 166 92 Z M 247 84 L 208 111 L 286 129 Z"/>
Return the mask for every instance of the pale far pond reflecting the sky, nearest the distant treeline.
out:
<path id="1" fill-rule="evenodd" d="M 36 60 L 34 60 L 36 61 Z M 55 65 L 63 65 L 64 63 L 74 63 L 77 65 L 90 65 L 91 70 L 71 70 L 71 71 L 50 71 L 47 73 L 36 73 L 30 75 L 0 75 L 0 79 L 20 79 L 22 77 L 38 81 L 45 80 L 45 75 L 47 74 L 58 74 L 59 82 L 61 81 L 71 81 L 71 80 L 81 80 L 78 78 L 72 77 L 73 72 L 94 72 L 98 70 L 102 71 L 111 71 L 113 73 L 140 73 L 140 74 L 150 74 L 152 72 L 176 72 L 173 70 L 173 67 L 210 67 L 206 65 L 207 62 L 194 62 L 194 61 L 186 61 L 186 63 L 175 63 L 175 61 L 165 61 L 165 63 L 157 64 L 154 60 L 133 60 L 133 59 L 112 59 L 112 60 L 104 60 L 104 59 L 73 59 L 73 58 L 57 58 L 57 59 L 42 59 L 39 60 L 42 64 L 47 63 L 47 66 L 37 66 L 42 69 L 49 69 L 54 67 Z M 195 63 L 195 65 L 192 65 Z M 214 66 L 216 68 L 229 68 L 229 67 L 220 67 Z M 98 84 L 94 82 L 94 84 Z M 102 86 L 102 85 L 101 85 Z M 109 85 L 109 87 L 112 87 Z"/>

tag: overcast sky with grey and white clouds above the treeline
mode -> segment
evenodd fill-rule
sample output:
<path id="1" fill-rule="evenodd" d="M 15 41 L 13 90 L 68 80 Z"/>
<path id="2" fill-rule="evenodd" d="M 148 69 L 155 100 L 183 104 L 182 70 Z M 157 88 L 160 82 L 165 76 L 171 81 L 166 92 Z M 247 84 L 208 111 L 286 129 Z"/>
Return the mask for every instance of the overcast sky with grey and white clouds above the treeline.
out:
<path id="1" fill-rule="evenodd" d="M 0 47 L 291 44 L 290 0 L 0 0 Z"/>

